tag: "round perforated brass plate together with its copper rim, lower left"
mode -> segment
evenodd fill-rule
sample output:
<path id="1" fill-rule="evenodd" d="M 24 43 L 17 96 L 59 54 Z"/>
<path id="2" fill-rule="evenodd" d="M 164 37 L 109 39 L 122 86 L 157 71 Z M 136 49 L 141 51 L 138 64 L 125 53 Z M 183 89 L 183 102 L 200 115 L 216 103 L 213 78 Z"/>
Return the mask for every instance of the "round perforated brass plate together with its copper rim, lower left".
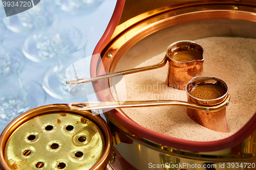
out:
<path id="1" fill-rule="evenodd" d="M 47 116 L 52 117 L 52 118 L 49 119 L 49 118 L 47 118 Z M 78 117 L 79 120 L 72 123 L 72 120 L 76 117 Z M 36 119 L 38 119 L 38 120 L 36 120 Z M 41 124 L 42 119 L 44 119 L 43 124 Z M 34 120 L 36 120 L 36 121 L 34 121 Z M 56 125 L 55 124 L 50 125 L 49 123 L 51 121 L 56 122 Z M 62 127 L 64 124 L 66 125 L 66 123 L 70 124 L 70 127 L 64 126 L 61 130 L 58 130 L 58 126 Z M 90 124 L 90 127 L 93 129 L 90 129 L 89 126 L 87 126 L 87 123 L 88 123 L 88 125 Z M 80 129 L 80 131 L 79 131 L 79 127 L 84 126 L 84 125 L 86 125 L 86 127 Z M 95 127 L 94 125 L 96 125 L 97 127 Z M 45 127 L 45 130 L 41 129 L 41 131 L 40 131 L 41 134 L 37 133 L 37 131 L 35 130 L 36 127 L 38 127 L 38 126 Z M 72 127 L 74 130 L 72 129 Z M 29 128 L 32 130 L 29 132 L 19 131 L 19 129 L 24 129 L 24 128 L 25 129 Z M 33 130 L 33 128 L 35 128 L 35 129 Z M 73 131 L 78 131 L 78 132 L 73 135 L 71 133 L 72 132 L 71 129 Z M 89 165 L 89 163 L 79 164 L 79 162 L 86 160 L 88 158 L 88 156 L 90 157 L 89 159 L 93 159 L 96 157 L 96 155 L 94 153 L 83 154 L 80 151 L 80 150 L 82 150 L 84 144 L 87 145 L 93 141 L 96 142 L 93 144 L 93 146 L 89 147 L 89 149 L 87 149 L 87 151 L 90 152 L 90 150 L 92 150 L 92 152 L 100 153 L 99 151 L 97 151 L 98 147 L 96 147 L 97 142 L 100 140 L 96 141 L 95 140 L 96 137 L 91 138 L 92 136 L 90 136 L 90 134 L 87 134 L 86 139 L 82 140 L 81 137 L 83 137 L 83 135 L 81 135 L 81 134 L 89 132 L 86 129 L 89 131 L 91 131 L 91 130 L 97 131 L 97 129 L 98 129 L 102 132 L 102 137 L 104 139 L 104 143 L 102 145 L 102 147 L 103 147 L 102 154 L 98 158 L 98 161 L 94 165 L 91 166 L 91 169 L 105 169 L 106 165 L 108 164 L 109 160 L 111 159 L 111 154 L 113 151 L 112 134 L 110 132 L 109 127 L 106 125 L 106 123 L 104 122 L 104 120 L 101 117 L 93 116 L 92 113 L 89 111 L 87 111 L 87 112 L 72 111 L 65 104 L 53 104 L 53 105 L 38 107 L 38 108 L 32 109 L 30 111 L 27 111 L 24 114 L 15 118 L 7 126 L 7 128 L 3 131 L 3 133 L 0 137 L 0 143 L 1 143 L 1 145 L 0 145 L 0 147 L 1 147 L 0 148 L 0 156 L 1 156 L 0 157 L 0 168 L 3 170 L 20 169 L 20 168 L 24 169 L 25 167 L 26 167 L 26 169 L 31 169 L 31 168 L 33 169 L 36 167 L 37 168 L 46 168 L 46 169 L 52 167 L 53 169 L 60 169 L 60 168 L 66 167 L 66 166 L 67 166 L 67 168 L 69 166 L 71 167 L 72 163 L 74 165 L 76 164 L 75 166 L 78 166 L 77 168 L 84 168 L 84 165 L 87 166 L 87 165 Z M 28 137 L 25 138 L 24 141 L 23 141 L 23 139 L 18 140 L 18 136 L 23 135 L 23 133 L 27 134 Z M 44 135 L 46 135 L 48 133 L 53 136 L 50 138 L 49 137 L 44 138 Z M 58 134 L 54 135 L 54 133 L 58 133 Z M 93 133 L 91 133 L 91 135 L 93 135 Z M 56 140 L 53 139 L 53 138 L 57 138 L 58 136 L 61 136 L 61 134 L 63 135 L 63 137 L 65 137 L 65 136 L 68 137 L 70 135 L 73 135 L 72 140 L 74 140 L 74 143 L 73 144 L 69 143 L 68 142 L 69 140 L 67 140 L 67 139 L 65 139 L 65 143 L 63 143 L 63 140 L 61 140 L 61 139 L 56 139 Z M 40 139 L 42 139 L 44 141 L 41 141 L 40 142 L 41 144 L 37 143 L 39 145 L 36 146 L 35 145 L 36 141 L 37 140 L 39 141 Z M 48 140 L 52 140 L 52 141 L 48 141 Z M 49 142 L 48 143 L 49 149 L 47 149 L 47 147 L 44 147 L 44 144 L 47 144 L 47 143 L 45 143 L 45 141 Z M 29 144 L 29 142 L 31 142 L 31 144 L 29 145 L 29 147 L 26 147 L 26 143 Z M 74 145 L 78 148 L 72 149 L 72 145 Z M 86 145 L 84 145 L 84 146 L 86 146 Z M 57 152 L 60 150 L 62 151 L 63 149 L 67 150 L 66 154 L 61 155 L 62 152 L 61 153 Z M 93 151 L 94 149 L 96 149 L 96 150 Z M 13 151 L 11 151 L 11 150 L 13 150 Z M 28 150 L 31 152 L 29 152 Z M 50 155 L 47 154 L 48 153 L 47 150 L 50 151 L 49 152 Z M 72 150 L 72 151 L 70 151 L 70 150 Z M 70 152 L 72 152 L 72 153 L 70 153 Z M 11 158 L 12 154 L 15 154 L 15 157 Z M 56 156 L 59 157 L 56 160 L 57 163 L 55 163 L 56 167 L 54 164 L 55 160 L 53 160 L 54 154 L 55 154 L 55 157 Z M 44 157 L 44 156 L 46 156 L 46 157 Z M 24 159 L 26 158 L 25 160 L 29 160 L 30 163 L 25 163 L 26 161 L 19 161 L 19 162 L 15 163 L 15 160 L 18 159 L 19 157 L 24 158 Z M 69 158 L 66 159 L 66 157 L 69 157 Z M 73 158 L 74 158 L 74 161 L 72 162 Z M 50 159 L 50 160 L 48 160 L 48 159 Z M 13 162 L 14 162 L 14 164 L 13 164 Z M 53 163 L 53 165 L 51 162 Z M 92 161 L 90 160 L 90 162 L 92 162 Z M 30 164 L 32 165 L 31 168 L 29 167 Z M 72 167 L 72 168 L 74 168 L 74 167 Z"/>

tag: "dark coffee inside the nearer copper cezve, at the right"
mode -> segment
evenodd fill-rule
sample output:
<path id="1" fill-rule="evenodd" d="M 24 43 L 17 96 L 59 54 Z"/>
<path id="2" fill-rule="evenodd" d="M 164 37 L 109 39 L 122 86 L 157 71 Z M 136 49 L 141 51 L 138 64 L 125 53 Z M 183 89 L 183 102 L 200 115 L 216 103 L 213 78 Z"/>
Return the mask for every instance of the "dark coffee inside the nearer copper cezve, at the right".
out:
<path id="1" fill-rule="evenodd" d="M 195 88 L 189 92 L 189 94 L 197 99 L 213 100 L 220 98 L 226 92 L 227 90 L 225 89 L 225 87 L 209 83 L 196 85 Z"/>

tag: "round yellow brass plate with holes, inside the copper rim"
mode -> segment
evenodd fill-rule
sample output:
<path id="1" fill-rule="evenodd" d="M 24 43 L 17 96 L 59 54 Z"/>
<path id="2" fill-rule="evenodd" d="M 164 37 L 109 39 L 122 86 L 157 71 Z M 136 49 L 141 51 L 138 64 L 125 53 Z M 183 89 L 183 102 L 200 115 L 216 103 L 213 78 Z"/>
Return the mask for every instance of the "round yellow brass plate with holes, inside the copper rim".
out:
<path id="1" fill-rule="evenodd" d="M 70 113 L 44 114 L 12 133 L 5 159 L 11 169 L 90 169 L 104 145 L 91 120 Z"/>

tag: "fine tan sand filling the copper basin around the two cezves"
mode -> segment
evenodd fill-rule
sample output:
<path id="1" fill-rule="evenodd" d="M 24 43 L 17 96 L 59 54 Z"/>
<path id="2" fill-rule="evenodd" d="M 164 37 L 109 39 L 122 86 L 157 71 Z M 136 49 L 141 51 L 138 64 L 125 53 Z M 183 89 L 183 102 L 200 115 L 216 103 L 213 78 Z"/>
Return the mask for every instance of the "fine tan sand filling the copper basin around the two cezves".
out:
<path id="1" fill-rule="evenodd" d="M 218 77 L 229 86 L 231 99 L 227 107 L 227 117 L 231 127 L 230 133 L 215 132 L 202 127 L 187 116 L 186 108 L 183 107 L 122 110 L 139 125 L 168 136 L 194 141 L 223 139 L 236 133 L 256 111 L 256 39 L 210 37 L 195 41 L 205 48 L 204 76 Z M 164 55 L 165 52 L 137 67 L 158 63 Z M 160 69 L 124 76 L 124 81 L 116 86 L 119 100 L 186 101 L 185 91 L 165 85 L 167 65 Z"/>

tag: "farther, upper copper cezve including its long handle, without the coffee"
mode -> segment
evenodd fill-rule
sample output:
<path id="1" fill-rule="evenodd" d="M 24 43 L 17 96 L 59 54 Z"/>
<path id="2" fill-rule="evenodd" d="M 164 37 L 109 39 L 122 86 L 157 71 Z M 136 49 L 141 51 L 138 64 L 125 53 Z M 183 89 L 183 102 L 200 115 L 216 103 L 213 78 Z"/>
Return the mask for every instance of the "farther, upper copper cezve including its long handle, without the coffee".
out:
<path id="1" fill-rule="evenodd" d="M 199 59 L 191 59 L 184 62 L 177 61 L 173 58 L 174 55 L 177 55 L 176 53 L 179 54 L 184 51 L 195 52 L 199 56 Z M 108 57 L 109 54 L 111 53 L 106 54 L 106 57 Z M 170 44 L 167 47 L 166 55 L 158 64 L 118 72 L 109 72 L 107 75 L 100 75 L 93 78 L 68 80 L 67 84 L 88 83 L 102 79 L 134 74 L 136 72 L 153 70 L 163 67 L 167 63 L 167 60 L 169 61 L 169 70 L 166 82 L 169 87 L 185 90 L 186 84 L 191 80 L 191 78 L 203 76 L 204 48 L 196 42 L 184 40 Z"/>

